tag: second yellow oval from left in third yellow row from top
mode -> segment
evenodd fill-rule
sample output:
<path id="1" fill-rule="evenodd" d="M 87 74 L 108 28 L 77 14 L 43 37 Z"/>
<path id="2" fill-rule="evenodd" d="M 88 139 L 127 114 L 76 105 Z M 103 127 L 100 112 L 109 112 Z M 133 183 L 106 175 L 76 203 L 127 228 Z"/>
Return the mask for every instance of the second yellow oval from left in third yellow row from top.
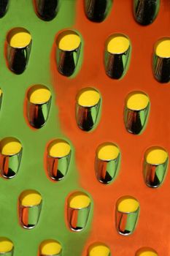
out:
<path id="1" fill-rule="evenodd" d="M 66 140 L 53 140 L 47 148 L 50 157 L 66 157 L 71 151 L 71 147 Z"/>

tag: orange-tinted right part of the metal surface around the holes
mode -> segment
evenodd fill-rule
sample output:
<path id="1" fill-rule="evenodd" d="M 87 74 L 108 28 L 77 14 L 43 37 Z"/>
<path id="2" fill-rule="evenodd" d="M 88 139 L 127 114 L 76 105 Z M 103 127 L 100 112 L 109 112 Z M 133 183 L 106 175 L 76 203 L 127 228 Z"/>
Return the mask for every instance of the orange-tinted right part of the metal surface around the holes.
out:
<path id="1" fill-rule="evenodd" d="M 133 1 L 115 0 L 112 12 L 103 23 L 90 22 L 84 12 L 83 1 L 77 1 L 75 26 L 84 39 L 84 58 L 80 72 L 68 79 L 58 74 L 55 58 L 52 73 L 56 90 L 61 129 L 72 141 L 80 185 L 94 200 L 92 228 L 87 246 L 103 241 L 112 255 L 135 255 L 142 246 L 150 246 L 158 255 L 170 255 L 169 194 L 170 173 L 163 186 L 148 188 L 142 177 L 144 151 L 150 146 L 162 146 L 170 154 L 170 88 L 158 83 L 152 75 L 154 43 L 169 36 L 170 1 L 161 0 L 158 18 L 150 26 L 140 26 L 133 16 Z M 104 72 L 104 42 L 110 34 L 123 33 L 131 39 L 130 67 L 122 80 L 112 80 Z M 53 49 L 52 55 L 55 55 Z M 75 119 L 77 92 L 93 86 L 103 99 L 101 121 L 93 132 L 82 132 Z M 150 97 L 151 108 L 147 128 L 142 135 L 131 135 L 123 124 L 125 97 L 130 91 L 141 90 Z M 100 143 L 111 141 L 120 147 L 122 161 L 120 173 L 110 185 L 100 184 L 94 172 L 94 158 Z M 115 203 L 122 195 L 132 195 L 139 200 L 141 211 L 134 234 L 125 237 L 115 230 Z"/>

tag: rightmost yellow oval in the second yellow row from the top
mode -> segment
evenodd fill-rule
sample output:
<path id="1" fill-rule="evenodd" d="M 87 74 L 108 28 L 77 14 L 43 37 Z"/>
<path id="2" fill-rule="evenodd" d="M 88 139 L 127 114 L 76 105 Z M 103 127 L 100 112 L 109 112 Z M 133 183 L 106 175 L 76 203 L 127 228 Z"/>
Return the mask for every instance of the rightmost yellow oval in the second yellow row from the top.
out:
<path id="1" fill-rule="evenodd" d="M 126 107 L 130 110 L 143 110 L 147 108 L 150 99 L 142 91 L 133 91 L 126 98 Z"/>

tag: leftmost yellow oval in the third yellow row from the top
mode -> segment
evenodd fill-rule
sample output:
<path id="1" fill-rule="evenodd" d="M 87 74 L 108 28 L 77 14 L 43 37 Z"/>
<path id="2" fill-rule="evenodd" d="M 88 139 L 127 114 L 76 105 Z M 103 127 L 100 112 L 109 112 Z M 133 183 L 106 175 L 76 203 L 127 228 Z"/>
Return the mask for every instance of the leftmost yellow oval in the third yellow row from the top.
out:
<path id="1" fill-rule="evenodd" d="M 4 138 L 0 141 L 0 151 L 4 156 L 12 156 L 18 154 L 22 148 L 19 140 L 15 138 Z"/>

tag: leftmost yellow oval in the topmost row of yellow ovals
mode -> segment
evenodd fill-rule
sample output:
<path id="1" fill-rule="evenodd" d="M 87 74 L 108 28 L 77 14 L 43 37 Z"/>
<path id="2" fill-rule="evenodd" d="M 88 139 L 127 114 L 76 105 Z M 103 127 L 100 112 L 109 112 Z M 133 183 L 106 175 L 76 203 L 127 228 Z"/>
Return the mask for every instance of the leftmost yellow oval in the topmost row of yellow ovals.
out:
<path id="1" fill-rule="evenodd" d="M 7 42 L 12 48 L 24 48 L 31 42 L 31 34 L 23 28 L 15 28 L 9 31 Z"/>

